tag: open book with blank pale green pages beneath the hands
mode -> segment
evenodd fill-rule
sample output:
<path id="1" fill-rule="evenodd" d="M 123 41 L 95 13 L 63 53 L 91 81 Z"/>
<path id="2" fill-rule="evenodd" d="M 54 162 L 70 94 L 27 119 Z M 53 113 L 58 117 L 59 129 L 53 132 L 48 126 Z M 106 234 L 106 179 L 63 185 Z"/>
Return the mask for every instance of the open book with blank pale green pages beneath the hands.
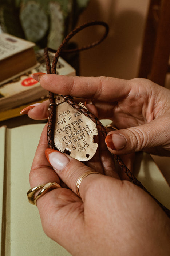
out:
<path id="1" fill-rule="evenodd" d="M 0 128 L 0 239 L 4 256 L 70 255 L 44 234 L 37 207 L 27 199 L 29 171 L 43 127 Z M 149 154 L 137 154 L 135 176 L 170 209 L 170 187 Z"/>

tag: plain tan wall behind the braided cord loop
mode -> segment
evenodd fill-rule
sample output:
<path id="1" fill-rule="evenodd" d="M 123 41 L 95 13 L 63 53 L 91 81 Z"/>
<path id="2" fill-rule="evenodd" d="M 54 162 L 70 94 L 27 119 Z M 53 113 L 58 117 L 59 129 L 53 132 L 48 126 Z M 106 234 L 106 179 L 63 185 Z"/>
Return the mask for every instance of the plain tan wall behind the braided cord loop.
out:
<path id="1" fill-rule="evenodd" d="M 80 75 L 124 79 L 137 76 L 148 4 L 149 0 L 90 1 L 78 25 L 103 20 L 110 26 L 110 32 L 102 44 L 80 54 Z M 95 32 L 86 29 L 76 36 L 79 45 L 88 44 L 101 36 L 103 30 L 95 28 Z"/>

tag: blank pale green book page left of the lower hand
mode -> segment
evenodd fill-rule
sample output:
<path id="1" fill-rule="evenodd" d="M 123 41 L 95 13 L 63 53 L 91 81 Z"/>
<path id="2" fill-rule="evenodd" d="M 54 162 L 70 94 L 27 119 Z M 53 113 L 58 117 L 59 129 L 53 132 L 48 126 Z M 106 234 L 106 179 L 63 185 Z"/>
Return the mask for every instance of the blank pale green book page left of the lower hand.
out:
<path id="1" fill-rule="evenodd" d="M 8 129 L 5 255 L 70 255 L 46 236 L 37 207 L 27 199 L 27 191 L 30 189 L 29 172 L 43 127 L 44 124 L 36 124 Z"/>

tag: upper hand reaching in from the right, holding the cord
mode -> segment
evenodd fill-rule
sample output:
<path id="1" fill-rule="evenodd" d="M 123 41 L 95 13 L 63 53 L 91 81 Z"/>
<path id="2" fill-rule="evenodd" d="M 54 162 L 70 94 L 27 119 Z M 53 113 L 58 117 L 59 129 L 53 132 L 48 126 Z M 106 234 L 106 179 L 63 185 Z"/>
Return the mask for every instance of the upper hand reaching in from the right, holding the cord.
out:
<path id="1" fill-rule="evenodd" d="M 106 138 L 111 153 L 145 150 L 170 155 L 170 90 L 142 78 L 123 80 L 38 73 L 33 78 L 54 93 L 91 99 L 99 118 L 111 119 L 119 129 L 108 133 Z M 28 115 L 46 118 L 47 104 L 29 110 Z"/>

